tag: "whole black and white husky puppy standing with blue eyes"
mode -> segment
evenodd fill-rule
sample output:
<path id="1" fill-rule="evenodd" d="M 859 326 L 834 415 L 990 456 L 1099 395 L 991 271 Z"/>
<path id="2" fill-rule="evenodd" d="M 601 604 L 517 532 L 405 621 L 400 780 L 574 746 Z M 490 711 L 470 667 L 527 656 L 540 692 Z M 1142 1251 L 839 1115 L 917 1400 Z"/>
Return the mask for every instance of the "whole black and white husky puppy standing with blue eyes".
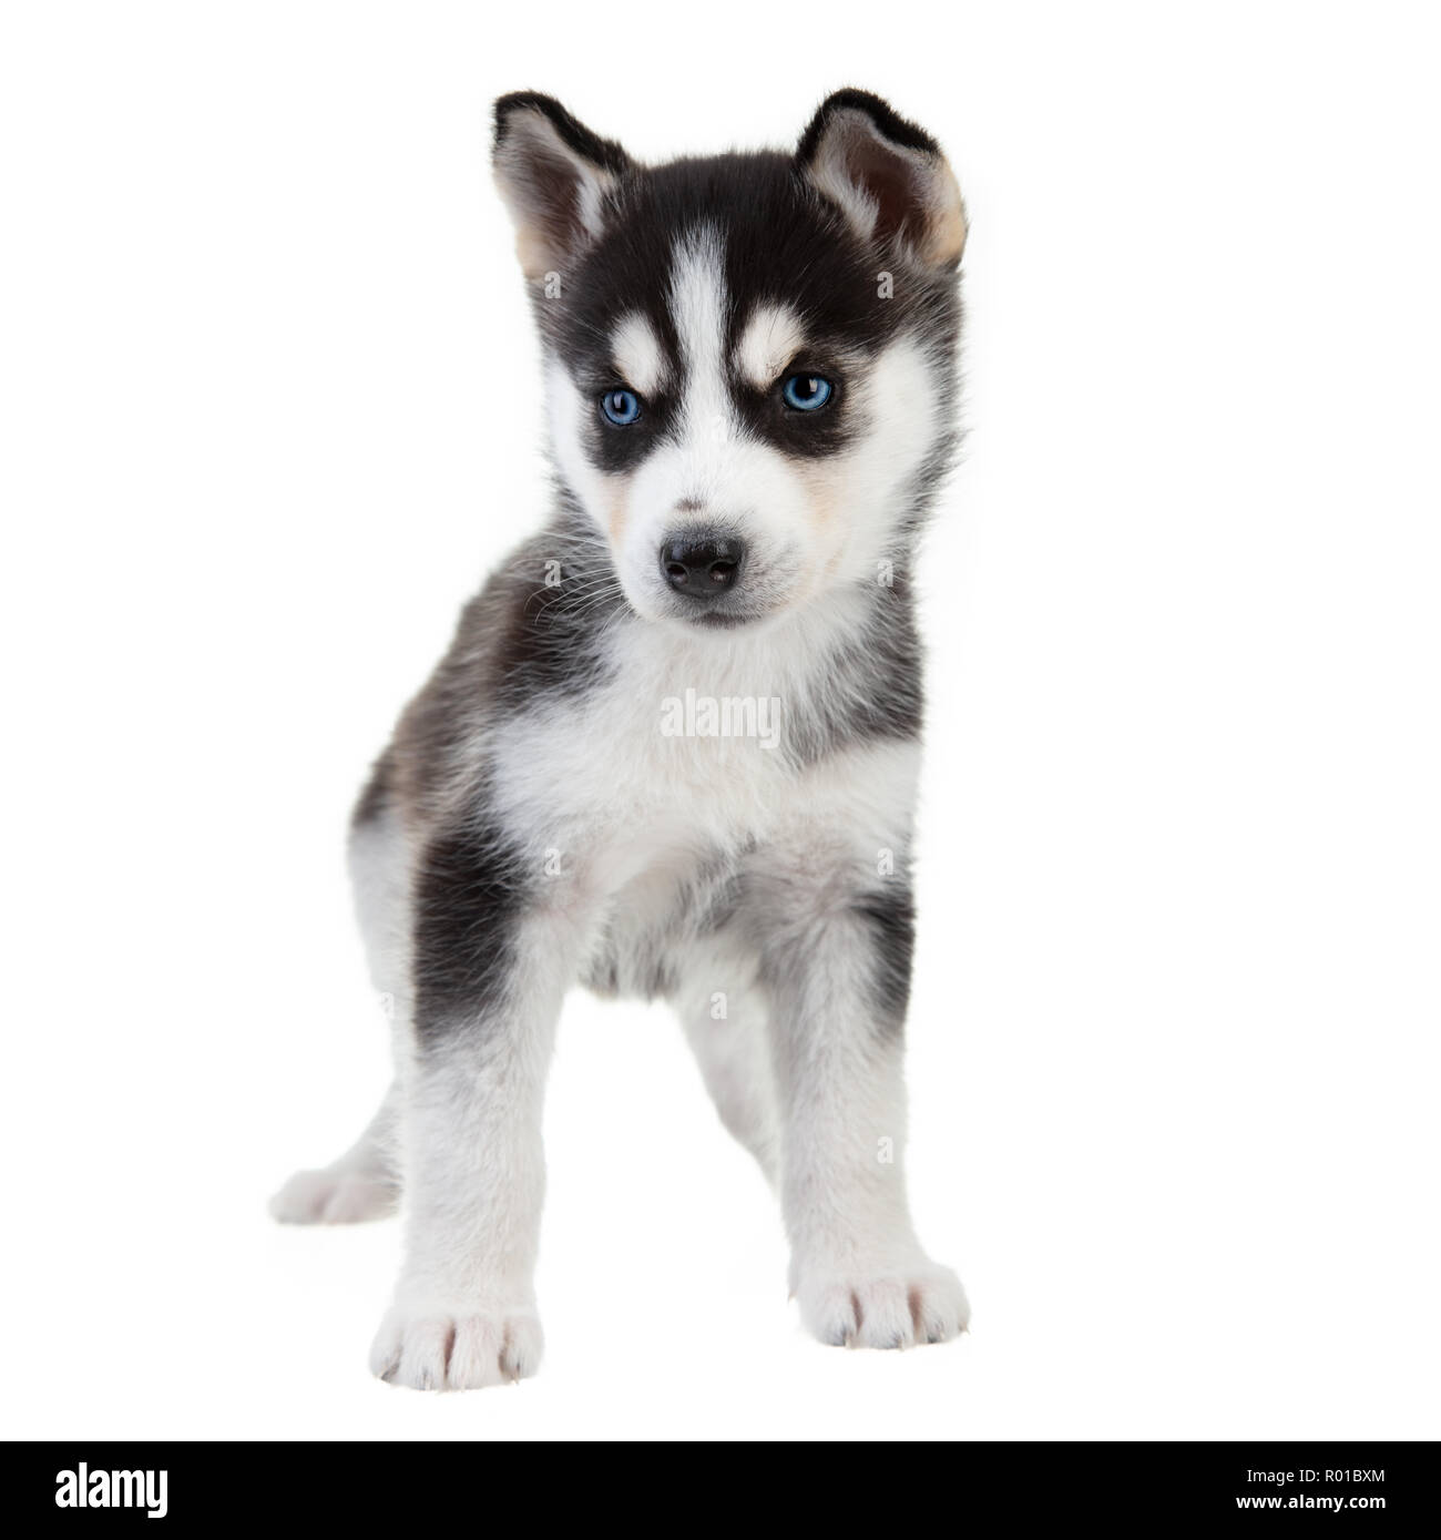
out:
<path id="1" fill-rule="evenodd" d="M 573 983 L 664 995 L 779 1189 L 822 1341 L 967 1320 L 905 1198 L 921 650 L 965 216 L 925 132 L 831 95 L 794 154 L 642 166 L 496 103 L 543 340 L 551 524 L 465 610 L 356 810 L 396 1084 L 282 1220 L 394 1210 L 382 1378 L 540 1358 L 540 1106 Z"/>

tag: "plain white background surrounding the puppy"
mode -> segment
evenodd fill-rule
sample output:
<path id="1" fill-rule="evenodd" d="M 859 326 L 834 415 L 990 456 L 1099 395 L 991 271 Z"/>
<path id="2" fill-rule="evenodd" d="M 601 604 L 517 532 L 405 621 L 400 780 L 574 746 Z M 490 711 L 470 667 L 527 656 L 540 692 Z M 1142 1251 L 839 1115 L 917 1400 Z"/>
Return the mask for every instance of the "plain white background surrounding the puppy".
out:
<path id="1" fill-rule="evenodd" d="M 3 1432 L 1436 1437 L 1436 37 L 1382 5 L 11 5 Z M 910 1029 L 961 1343 L 822 1349 L 665 1013 L 567 1009 L 537 1380 L 282 1230 L 386 1070 L 351 798 L 543 514 L 500 91 L 947 146 Z"/>

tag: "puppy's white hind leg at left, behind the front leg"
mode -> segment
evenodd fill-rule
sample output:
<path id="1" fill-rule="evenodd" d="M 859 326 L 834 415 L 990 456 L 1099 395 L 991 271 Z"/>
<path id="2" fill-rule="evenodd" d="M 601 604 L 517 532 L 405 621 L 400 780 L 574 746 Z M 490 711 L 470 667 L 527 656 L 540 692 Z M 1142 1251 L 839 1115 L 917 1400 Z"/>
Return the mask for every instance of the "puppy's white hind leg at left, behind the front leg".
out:
<path id="1" fill-rule="evenodd" d="M 371 983 L 391 1018 L 399 1066 L 411 1013 L 411 855 L 390 805 L 386 768 L 382 758 L 360 798 L 348 855 Z M 394 1214 L 400 1206 L 399 1132 L 397 1073 L 360 1138 L 329 1166 L 297 1170 L 271 1198 L 271 1215 L 283 1224 L 354 1224 Z"/>

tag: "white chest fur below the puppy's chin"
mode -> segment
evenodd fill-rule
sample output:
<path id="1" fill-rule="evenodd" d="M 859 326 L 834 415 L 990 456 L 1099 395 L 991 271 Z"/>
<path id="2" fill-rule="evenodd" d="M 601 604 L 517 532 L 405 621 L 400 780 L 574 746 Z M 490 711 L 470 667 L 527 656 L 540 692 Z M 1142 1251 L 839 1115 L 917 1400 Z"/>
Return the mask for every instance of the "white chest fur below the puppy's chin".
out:
<path id="1" fill-rule="evenodd" d="M 830 682 L 814 631 L 731 642 L 645 627 L 627 641 L 607 685 L 511 719 L 491 744 L 497 810 L 551 872 L 605 899 L 702 861 L 804 845 L 808 827 L 845 830 L 865 862 L 905 845 L 916 742 L 794 753 Z"/>

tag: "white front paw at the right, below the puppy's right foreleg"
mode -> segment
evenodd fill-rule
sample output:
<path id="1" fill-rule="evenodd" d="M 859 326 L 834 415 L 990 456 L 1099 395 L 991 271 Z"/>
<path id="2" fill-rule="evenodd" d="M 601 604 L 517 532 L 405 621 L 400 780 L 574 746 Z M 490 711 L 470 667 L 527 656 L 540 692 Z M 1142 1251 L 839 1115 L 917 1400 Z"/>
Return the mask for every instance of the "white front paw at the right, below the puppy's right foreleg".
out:
<path id="1" fill-rule="evenodd" d="M 970 1306 L 961 1280 L 921 1258 L 862 1275 L 797 1269 L 805 1329 L 836 1348 L 914 1348 L 965 1331 Z"/>

